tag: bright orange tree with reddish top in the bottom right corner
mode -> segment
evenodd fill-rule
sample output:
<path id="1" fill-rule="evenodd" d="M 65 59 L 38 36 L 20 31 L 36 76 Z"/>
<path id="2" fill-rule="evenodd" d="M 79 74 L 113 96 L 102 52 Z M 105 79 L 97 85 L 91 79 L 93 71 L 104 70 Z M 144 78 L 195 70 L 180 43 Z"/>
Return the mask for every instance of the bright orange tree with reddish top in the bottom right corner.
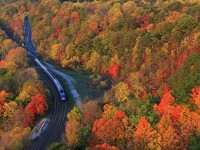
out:
<path id="1" fill-rule="evenodd" d="M 199 120 L 199 114 L 184 105 L 176 106 L 172 114 L 164 114 L 157 125 L 162 148 L 187 149 L 190 136 L 200 131 Z"/>

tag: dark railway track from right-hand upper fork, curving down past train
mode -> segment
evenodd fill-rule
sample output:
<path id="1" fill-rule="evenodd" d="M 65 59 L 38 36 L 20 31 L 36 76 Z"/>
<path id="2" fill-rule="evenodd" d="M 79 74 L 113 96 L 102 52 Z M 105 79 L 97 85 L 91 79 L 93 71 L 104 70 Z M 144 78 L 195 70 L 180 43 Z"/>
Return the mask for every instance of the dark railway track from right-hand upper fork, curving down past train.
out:
<path id="1" fill-rule="evenodd" d="M 46 85 L 49 87 L 53 97 L 53 110 L 49 116 L 51 121 L 45 133 L 37 141 L 33 141 L 28 149 L 30 150 L 45 150 L 51 143 L 61 141 L 61 134 L 65 126 L 66 113 L 67 113 L 67 102 L 60 100 L 60 95 L 57 92 L 56 86 L 48 75 L 45 74 L 44 70 L 41 69 L 35 61 L 35 46 L 32 41 L 31 25 L 28 19 L 25 19 L 24 24 L 25 30 L 25 41 L 30 52 L 30 63 L 35 66 L 40 76 L 44 81 L 48 81 Z"/>

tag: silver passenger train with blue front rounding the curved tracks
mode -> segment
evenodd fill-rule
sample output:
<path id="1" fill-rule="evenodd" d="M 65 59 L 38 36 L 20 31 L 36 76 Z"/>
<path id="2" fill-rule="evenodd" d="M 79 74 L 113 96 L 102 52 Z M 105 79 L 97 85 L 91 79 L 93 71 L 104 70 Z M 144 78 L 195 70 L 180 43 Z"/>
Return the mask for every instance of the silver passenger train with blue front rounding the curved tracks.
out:
<path id="1" fill-rule="evenodd" d="M 35 58 L 35 62 L 42 68 L 42 70 L 51 78 L 51 80 L 53 81 L 54 85 L 56 86 L 58 92 L 59 92 L 59 96 L 60 99 L 62 101 L 66 100 L 66 95 L 65 92 L 63 90 L 62 85 L 60 84 L 60 82 L 56 79 L 56 77 L 37 59 Z"/>

